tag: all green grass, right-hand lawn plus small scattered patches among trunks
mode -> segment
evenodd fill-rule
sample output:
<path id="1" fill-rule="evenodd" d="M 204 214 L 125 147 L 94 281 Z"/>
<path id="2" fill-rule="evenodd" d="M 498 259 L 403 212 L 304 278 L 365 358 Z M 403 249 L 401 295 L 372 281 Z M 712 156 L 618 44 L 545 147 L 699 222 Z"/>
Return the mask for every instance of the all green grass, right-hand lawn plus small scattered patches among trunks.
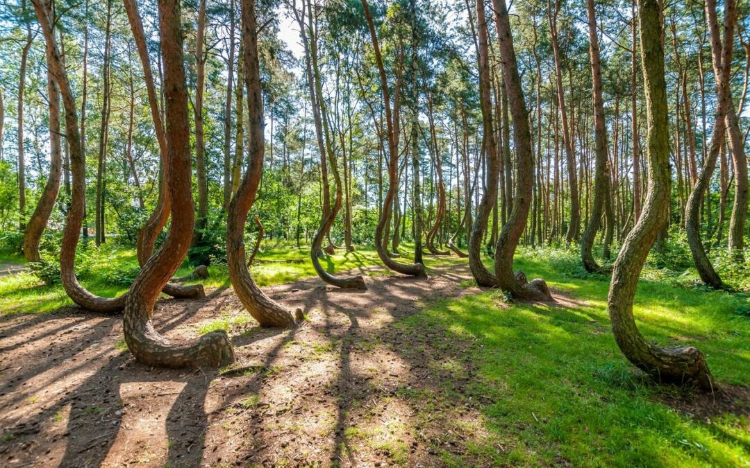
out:
<path id="1" fill-rule="evenodd" d="M 410 259 L 408 249 L 402 249 L 403 261 Z M 254 264 L 254 278 L 265 286 L 314 276 L 308 255 L 308 249 L 266 249 Z M 466 262 L 455 257 L 425 260 L 428 268 Z M 137 273 L 131 250 L 107 247 L 80 255 L 79 264 L 83 284 L 104 296 L 126 291 Z M 323 264 L 335 272 L 380 261 L 372 249 L 362 247 L 340 250 Z M 398 390 L 398 398 L 418 409 L 414 424 L 404 431 L 416 436 L 439 412 L 449 421 L 445 430 L 451 437 L 466 434 L 469 440 L 463 453 L 446 449 L 439 437 L 431 441 L 443 462 L 456 467 L 477 461 L 487 466 L 750 466 L 750 408 L 742 407 L 747 401 L 736 402 L 744 415 L 736 408 L 711 410 L 710 396 L 701 400 L 689 389 L 656 386 L 643 378 L 611 335 L 607 276 L 586 275 L 574 252 L 553 249 L 521 249 L 515 267 L 529 279 L 545 279 L 567 298 L 565 305 L 508 303 L 500 291 L 485 291 L 418 302 L 418 312 L 390 325 L 415 343 L 393 352 L 440 356 L 434 370 L 449 376 L 434 388 Z M 177 275 L 189 271 L 183 267 Z M 750 386 L 747 294 L 684 288 L 651 267 L 643 277 L 634 315 L 646 339 L 695 345 L 705 353 L 719 385 Z M 464 283 L 469 287 L 471 282 Z M 211 267 L 204 284 L 229 286 L 226 267 Z M 32 273 L 0 279 L 2 314 L 52 312 L 69 304 L 62 286 L 42 285 Z M 211 323 L 199 331 L 231 325 Z M 462 426 L 467 407 L 478 408 L 479 426 Z M 346 437 L 367 443 L 370 436 L 355 425 L 347 428 Z M 387 450 L 397 463 L 408 459 L 404 444 Z"/>

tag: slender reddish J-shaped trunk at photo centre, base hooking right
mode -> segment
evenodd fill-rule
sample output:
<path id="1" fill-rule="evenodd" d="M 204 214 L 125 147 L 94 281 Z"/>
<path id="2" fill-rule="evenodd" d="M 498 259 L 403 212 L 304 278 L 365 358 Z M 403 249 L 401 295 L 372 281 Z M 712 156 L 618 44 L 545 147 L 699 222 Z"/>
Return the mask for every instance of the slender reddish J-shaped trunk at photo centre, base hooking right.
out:
<path id="1" fill-rule="evenodd" d="M 377 61 L 378 70 L 380 71 L 380 85 L 381 91 L 383 92 L 383 104 L 386 109 L 386 124 L 388 127 L 389 143 L 389 186 L 388 192 L 386 192 L 386 198 L 383 201 L 383 210 L 380 212 L 380 219 L 375 228 L 375 249 L 377 249 L 378 256 L 380 257 L 380 260 L 383 261 L 383 264 L 391 270 L 394 270 L 397 273 L 403 273 L 404 275 L 427 276 L 425 265 L 419 263 L 407 265 L 393 261 L 388 255 L 386 249 L 383 248 L 383 229 L 386 227 L 387 219 L 391 216 L 393 201 L 396 196 L 396 188 L 398 186 L 398 94 L 400 92 L 399 88 L 401 88 L 401 72 L 398 72 L 398 79 L 396 80 L 395 99 L 397 102 L 394 103 L 395 112 L 393 112 L 394 115 L 392 115 L 386 68 L 383 66 L 383 57 L 380 55 L 380 46 L 378 45 L 377 33 L 375 32 L 375 24 L 367 0 L 362 0 L 362 7 L 365 9 L 365 17 L 368 20 L 368 26 L 370 28 L 375 59 Z M 401 67 L 401 61 L 401 58 L 399 58 L 398 64 L 396 65 L 397 67 Z M 398 229 L 398 226 L 395 228 Z"/>

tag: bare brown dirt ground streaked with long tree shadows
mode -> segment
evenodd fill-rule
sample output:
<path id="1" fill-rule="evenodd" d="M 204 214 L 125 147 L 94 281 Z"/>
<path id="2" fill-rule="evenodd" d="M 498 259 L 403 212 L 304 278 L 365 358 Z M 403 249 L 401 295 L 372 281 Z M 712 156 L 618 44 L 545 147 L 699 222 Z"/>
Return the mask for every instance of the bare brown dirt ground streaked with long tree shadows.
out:
<path id="1" fill-rule="evenodd" d="M 318 279 L 266 288 L 307 314 L 289 330 L 248 322 L 230 289 L 160 301 L 154 317 L 172 338 L 230 320 L 239 375 L 145 368 L 123 351 L 118 317 L 2 317 L 0 465 L 414 466 L 441 464 L 436 447 L 465 452 L 483 437 L 481 416 L 441 392 L 471 379 L 471 342 L 400 322 L 424 301 L 477 292 L 460 286 L 468 269 L 370 273 L 365 292 Z M 413 404 L 417 393 L 434 395 L 434 412 Z"/>

